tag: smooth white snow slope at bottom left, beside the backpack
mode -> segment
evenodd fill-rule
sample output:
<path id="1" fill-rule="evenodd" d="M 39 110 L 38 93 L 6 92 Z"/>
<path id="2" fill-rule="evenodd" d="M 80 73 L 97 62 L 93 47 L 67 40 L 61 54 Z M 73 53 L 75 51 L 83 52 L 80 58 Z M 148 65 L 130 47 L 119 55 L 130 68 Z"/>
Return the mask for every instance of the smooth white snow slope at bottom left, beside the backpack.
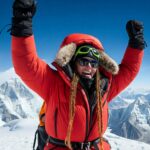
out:
<path id="1" fill-rule="evenodd" d="M 31 150 L 37 120 L 17 119 L 0 127 L 0 150 Z"/>

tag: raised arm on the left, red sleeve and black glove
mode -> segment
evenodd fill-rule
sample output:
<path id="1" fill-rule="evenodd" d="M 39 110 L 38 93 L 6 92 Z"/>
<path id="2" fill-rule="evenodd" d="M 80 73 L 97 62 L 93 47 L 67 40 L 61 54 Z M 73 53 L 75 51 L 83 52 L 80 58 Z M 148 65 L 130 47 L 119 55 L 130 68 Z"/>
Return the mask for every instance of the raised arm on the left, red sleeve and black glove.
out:
<path id="1" fill-rule="evenodd" d="M 36 53 L 32 32 L 34 0 L 15 0 L 12 18 L 12 59 L 16 73 L 43 99 L 49 96 L 50 79 L 55 72 Z M 53 78 L 54 79 L 54 78 Z"/>

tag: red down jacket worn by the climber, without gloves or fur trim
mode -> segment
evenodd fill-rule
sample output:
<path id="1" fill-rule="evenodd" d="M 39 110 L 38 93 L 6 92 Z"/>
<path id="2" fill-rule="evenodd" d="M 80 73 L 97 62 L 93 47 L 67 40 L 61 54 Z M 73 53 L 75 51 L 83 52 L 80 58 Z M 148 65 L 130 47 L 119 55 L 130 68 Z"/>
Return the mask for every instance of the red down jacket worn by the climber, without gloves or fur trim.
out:
<path id="1" fill-rule="evenodd" d="M 63 45 L 74 42 L 89 43 L 102 47 L 97 39 L 88 35 L 83 37 L 68 36 L 63 41 Z M 80 36 L 80 38 L 78 37 Z M 86 38 L 88 37 L 88 40 Z M 67 43 L 68 42 L 68 43 Z M 63 46 L 62 45 L 62 46 Z M 61 46 L 61 47 L 62 47 Z M 143 51 L 127 47 L 119 72 L 112 75 L 104 70 L 103 74 L 109 78 L 109 85 L 102 101 L 107 97 L 106 104 L 103 107 L 103 133 L 108 124 L 108 103 L 119 94 L 137 75 L 143 57 Z M 70 79 L 63 69 L 53 63 L 56 70 L 50 68 L 36 53 L 34 36 L 29 37 L 12 37 L 12 58 L 16 73 L 21 79 L 36 93 L 38 93 L 46 102 L 46 131 L 48 135 L 64 140 L 67 133 L 69 121 L 69 94 Z M 98 126 L 95 122 L 92 130 L 89 130 L 90 108 L 87 96 L 82 86 L 78 86 L 76 96 L 76 108 L 71 141 L 83 142 L 88 133 L 88 141 L 99 137 Z M 96 116 L 96 115 L 95 115 Z M 109 146 L 103 143 L 104 150 L 109 150 Z M 61 149 L 61 148 L 57 148 Z M 67 148 L 63 148 L 67 149 Z"/>

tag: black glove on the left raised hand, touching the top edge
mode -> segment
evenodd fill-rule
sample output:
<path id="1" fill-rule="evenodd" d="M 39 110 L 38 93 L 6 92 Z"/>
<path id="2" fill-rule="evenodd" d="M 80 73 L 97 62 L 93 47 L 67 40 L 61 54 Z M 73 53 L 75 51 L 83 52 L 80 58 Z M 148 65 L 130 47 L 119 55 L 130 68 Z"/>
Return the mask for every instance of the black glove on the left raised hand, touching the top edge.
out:
<path id="1" fill-rule="evenodd" d="M 36 11 L 34 0 L 15 0 L 13 4 L 13 17 L 11 35 L 24 37 L 32 32 L 32 17 Z"/>

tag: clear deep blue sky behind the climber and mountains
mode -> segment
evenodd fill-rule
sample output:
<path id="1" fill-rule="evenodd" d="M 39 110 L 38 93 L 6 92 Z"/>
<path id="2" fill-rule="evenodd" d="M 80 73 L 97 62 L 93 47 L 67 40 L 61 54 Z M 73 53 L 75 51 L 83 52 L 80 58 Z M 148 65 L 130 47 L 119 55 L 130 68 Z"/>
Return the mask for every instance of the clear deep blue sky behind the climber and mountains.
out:
<path id="1" fill-rule="evenodd" d="M 11 23 L 13 0 L 0 0 L 0 28 Z M 57 50 L 70 33 L 87 33 L 102 42 L 106 53 L 121 62 L 127 47 L 126 22 L 144 22 L 145 39 L 150 43 L 149 0 L 37 0 L 33 31 L 38 55 L 51 63 Z M 11 36 L 5 29 L 0 35 L 0 72 L 12 67 Z M 131 56 L 134 57 L 134 56 Z M 145 49 L 142 68 L 134 87 L 150 89 L 150 50 Z"/>

